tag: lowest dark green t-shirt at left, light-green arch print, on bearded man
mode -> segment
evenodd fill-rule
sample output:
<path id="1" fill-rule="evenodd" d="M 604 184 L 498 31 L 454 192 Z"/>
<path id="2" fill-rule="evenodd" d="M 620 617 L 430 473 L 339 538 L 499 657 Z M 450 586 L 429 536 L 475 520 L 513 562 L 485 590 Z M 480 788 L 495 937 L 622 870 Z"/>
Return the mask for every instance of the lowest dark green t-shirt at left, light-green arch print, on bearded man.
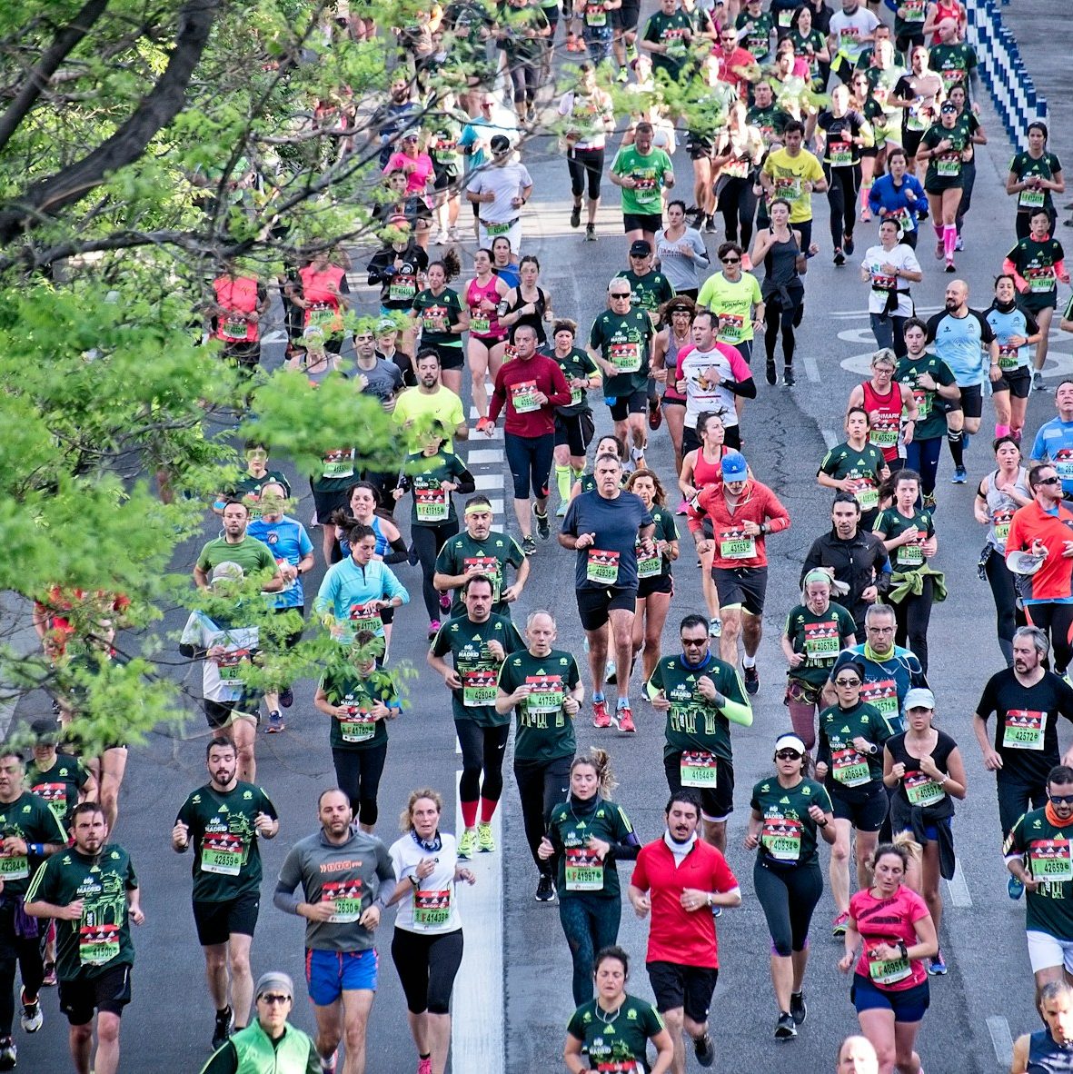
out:
<path id="1" fill-rule="evenodd" d="M 105 843 L 92 858 L 70 847 L 38 870 L 27 902 L 66 906 L 82 900 L 81 917 L 56 920 L 56 972 L 61 982 L 91 981 L 117 966 L 134 964 L 127 892 L 136 890 L 134 867 L 118 843 Z"/>

